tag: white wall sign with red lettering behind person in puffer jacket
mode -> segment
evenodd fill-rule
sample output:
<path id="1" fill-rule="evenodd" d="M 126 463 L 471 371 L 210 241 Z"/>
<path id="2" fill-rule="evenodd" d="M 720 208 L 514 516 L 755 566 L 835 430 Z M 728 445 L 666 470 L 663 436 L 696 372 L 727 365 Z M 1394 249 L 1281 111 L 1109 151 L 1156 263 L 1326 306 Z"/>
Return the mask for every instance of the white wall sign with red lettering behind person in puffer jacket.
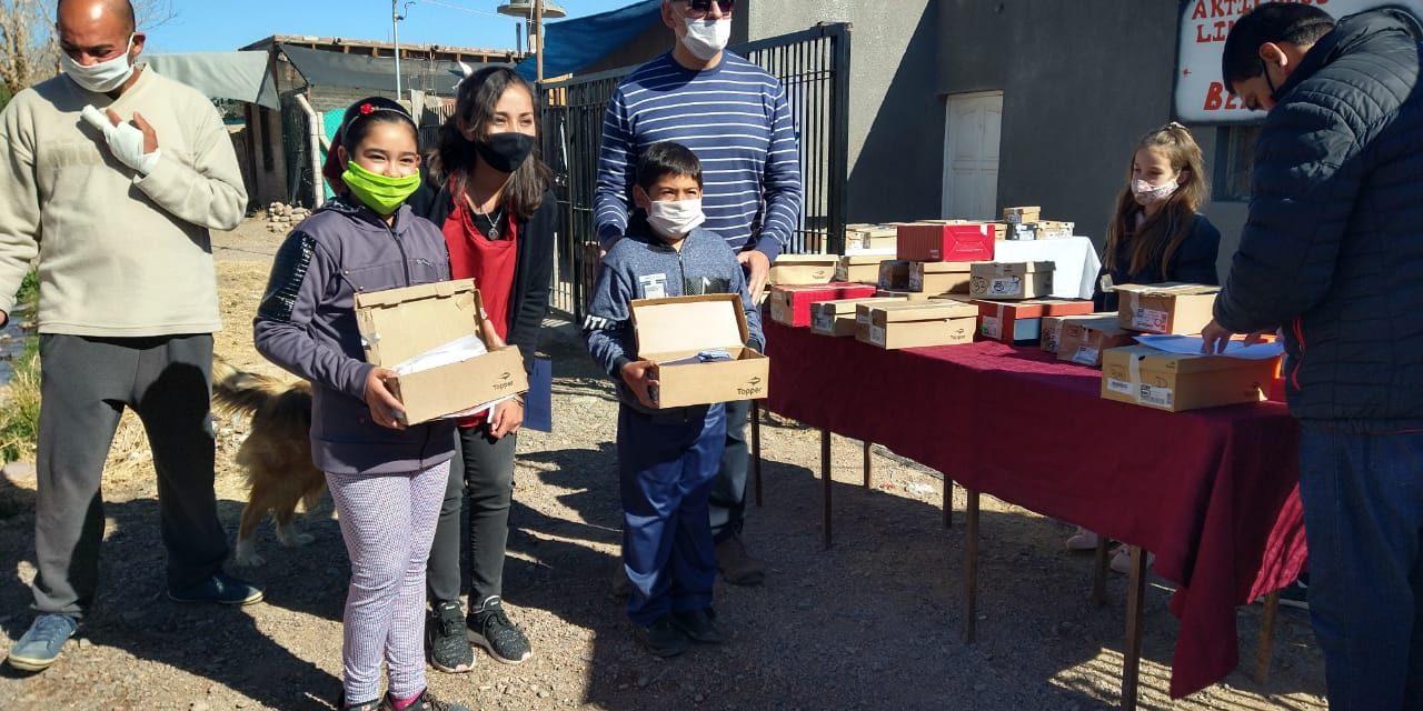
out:
<path id="1" fill-rule="evenodd" d="M 1175 117 L 1185 124 L 1248 124 L 1265 115 L 1249 111 L 1225 91 L 1221 51 L 1239 16 L 1271 0 L 1187 0 L 1181 6 L 1181 36 L 1175 55 Z M 1335 20 L 1376 7 L 1393 6 L 1423 18 L 1423 0 L 1279 0 L 1305 3 Z"/>

